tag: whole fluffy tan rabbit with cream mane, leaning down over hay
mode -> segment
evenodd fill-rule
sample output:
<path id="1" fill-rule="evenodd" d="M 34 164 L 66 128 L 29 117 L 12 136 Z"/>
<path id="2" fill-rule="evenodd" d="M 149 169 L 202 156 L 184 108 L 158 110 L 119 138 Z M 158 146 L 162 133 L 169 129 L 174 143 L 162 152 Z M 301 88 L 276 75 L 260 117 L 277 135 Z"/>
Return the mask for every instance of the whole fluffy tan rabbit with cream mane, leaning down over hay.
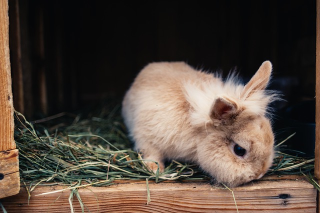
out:
<path id="1" fill-rule="evenodd" d="M 272 64 L 264 61 L 243 85 L 231 72 L 195 70 L 185 62 L 152 62 L 122 101 L 122 116 L 136 150 L 154 173 L 165 160 L 196 163 L 217 183 L 235 187 L 262 177 L 274 157 L 266 90 Z"/>

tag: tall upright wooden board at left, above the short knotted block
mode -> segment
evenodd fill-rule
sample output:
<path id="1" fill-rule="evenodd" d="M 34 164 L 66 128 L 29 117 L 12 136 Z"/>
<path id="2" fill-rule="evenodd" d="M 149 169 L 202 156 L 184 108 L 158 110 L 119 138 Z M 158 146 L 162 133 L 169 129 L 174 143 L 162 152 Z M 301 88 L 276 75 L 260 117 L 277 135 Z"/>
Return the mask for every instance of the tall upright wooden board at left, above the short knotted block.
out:
<path id="1" fill-rule="evenodd" d="M 8 2 L 0 0 L 0 151 L 15 148 L 8 25 Z"/>

